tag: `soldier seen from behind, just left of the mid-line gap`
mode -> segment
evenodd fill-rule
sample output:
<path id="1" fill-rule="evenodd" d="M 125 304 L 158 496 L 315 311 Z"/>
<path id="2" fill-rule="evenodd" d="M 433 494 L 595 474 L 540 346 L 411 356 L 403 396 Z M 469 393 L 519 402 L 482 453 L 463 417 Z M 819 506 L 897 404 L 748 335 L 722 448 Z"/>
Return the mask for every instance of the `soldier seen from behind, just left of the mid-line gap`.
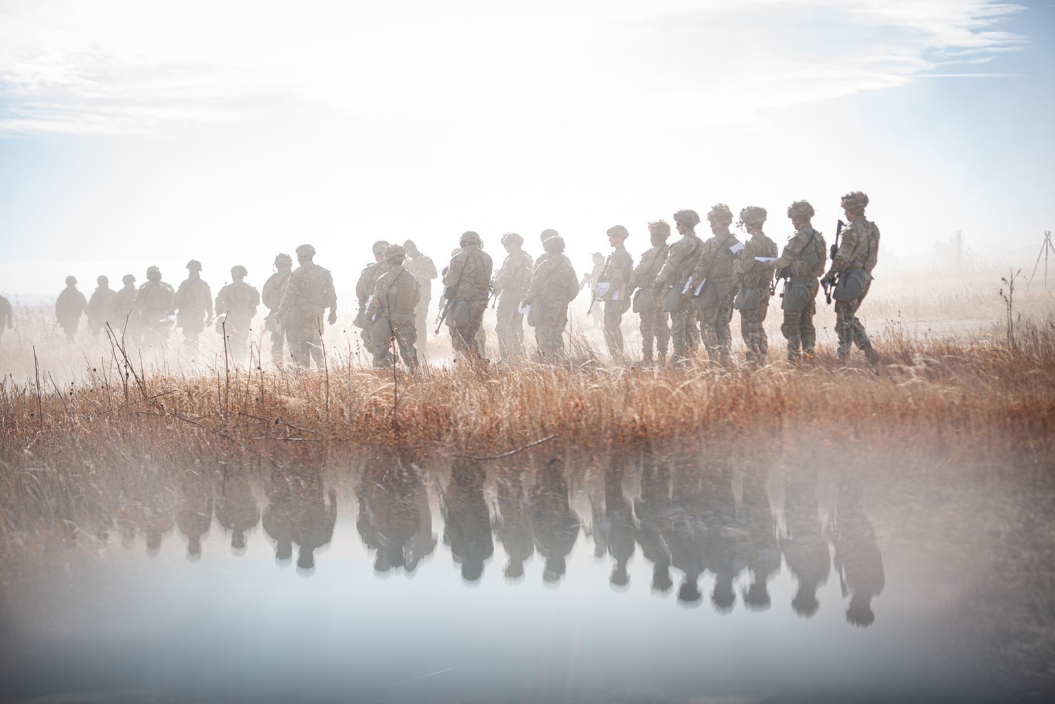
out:
<path id="1" fill-rule="evenodd" d="M 552 362 L 564 358 L 568 304 L 575 300 L 579 285 L 572 262 L 564 254 L 564 239 L 554 235 L 542 246 L 545 259 L 539 258 L 541 262 L 532 272 L 524 304 L 531 306 L 539 358 Z"/>

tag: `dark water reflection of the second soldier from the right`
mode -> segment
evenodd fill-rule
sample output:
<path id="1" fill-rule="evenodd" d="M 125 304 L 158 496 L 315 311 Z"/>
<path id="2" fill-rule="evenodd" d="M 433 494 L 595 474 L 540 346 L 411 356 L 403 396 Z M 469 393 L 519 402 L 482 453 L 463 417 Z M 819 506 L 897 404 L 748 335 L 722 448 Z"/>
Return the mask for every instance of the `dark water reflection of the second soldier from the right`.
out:
<path id="1" fill-rule="evenodd" d="M 817 501 L 817 472 L 804 470 L 790 477 L 784 491 L 784 522 L 787 535 L 781 551 L 788 570 L 799 583 L 791 608 L 809 619 L 820 608 L 817 590 L 828 581 L 831 555 L 824 539 Z"/>

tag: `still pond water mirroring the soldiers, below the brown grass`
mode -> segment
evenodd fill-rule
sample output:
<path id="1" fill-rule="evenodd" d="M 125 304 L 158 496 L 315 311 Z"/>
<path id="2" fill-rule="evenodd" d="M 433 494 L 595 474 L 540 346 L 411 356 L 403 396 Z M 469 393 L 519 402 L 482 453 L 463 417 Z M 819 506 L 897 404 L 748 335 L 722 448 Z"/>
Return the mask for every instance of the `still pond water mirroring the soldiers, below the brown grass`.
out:
<path id="1" fill-rule="evenodd" d="M 1040 701 L 1052 518 L 1011 535 L 1037 492 L 984 476 L 154 465 L 5 579 L 0 698 Z"/>

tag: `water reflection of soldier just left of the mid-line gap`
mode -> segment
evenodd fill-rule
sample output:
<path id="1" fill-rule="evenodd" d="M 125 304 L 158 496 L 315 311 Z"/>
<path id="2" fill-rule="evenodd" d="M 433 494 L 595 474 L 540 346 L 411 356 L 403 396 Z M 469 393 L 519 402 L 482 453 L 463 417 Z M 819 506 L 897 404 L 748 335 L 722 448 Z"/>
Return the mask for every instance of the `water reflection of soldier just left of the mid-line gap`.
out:
<path id="1" fill-rule="evenodd" d="M 582 526 L 571 507 L 561 459 L 551 459 L 535 475 L 531 491 L 531 525 L 535 549 L 545 559 L 542 579 L 555 584 L 568 570 L 568 555 Z"/>

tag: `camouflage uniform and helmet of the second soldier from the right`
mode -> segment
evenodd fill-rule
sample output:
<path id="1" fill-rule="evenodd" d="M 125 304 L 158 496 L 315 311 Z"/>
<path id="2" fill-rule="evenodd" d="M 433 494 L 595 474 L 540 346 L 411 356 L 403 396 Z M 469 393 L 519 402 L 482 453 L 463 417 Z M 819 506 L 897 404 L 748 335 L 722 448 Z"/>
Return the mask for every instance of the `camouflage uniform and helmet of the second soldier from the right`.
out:
<path id="1" fill-rule="evenodd" d="M 788 209 L 789 216 L 798 203 L 800 202 L 792 204 Z M 808 222 L 813 209 L 808 203 L 805 207 L 799 207 L 803 208 L 803 213 L 806 212 L 805 208 L 809 209 L 809 215 L 806 215 L 807 222 L 788 239 L 788 243 L 784 245 L 784 252 L 775 264 L 778 275 L 787 278 L 791 284 L 803 284 L 809 289 L 809 301 L 805 308 L 784 311 L 781 332 L 788 341 L 788 361 L 791 362 L 799 359 L 800 349 L 809 357 L 813 356 L 817 346 L 813 316 L 817 313 L 817 291 L 820 288 L 818 277 L 824 273 L 824 260 L 827 254 L 824 236 Z"/>

